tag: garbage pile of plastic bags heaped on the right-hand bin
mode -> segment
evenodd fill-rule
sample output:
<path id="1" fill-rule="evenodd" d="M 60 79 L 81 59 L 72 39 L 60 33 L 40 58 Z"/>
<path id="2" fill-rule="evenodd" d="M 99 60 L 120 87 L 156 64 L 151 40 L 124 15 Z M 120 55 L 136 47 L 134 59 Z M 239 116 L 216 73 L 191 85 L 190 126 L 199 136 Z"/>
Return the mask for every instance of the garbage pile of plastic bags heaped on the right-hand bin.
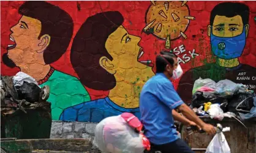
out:
<path id="1" fill-rule="evenodd" d="M 211 79 L 197 79 L 193 87 L 190 108 L 198 116 L 219 119 L 238 116 L 242 120 L 256 118 L 256 96 L 243 84 L 231 80 L 214 82 Z"/>

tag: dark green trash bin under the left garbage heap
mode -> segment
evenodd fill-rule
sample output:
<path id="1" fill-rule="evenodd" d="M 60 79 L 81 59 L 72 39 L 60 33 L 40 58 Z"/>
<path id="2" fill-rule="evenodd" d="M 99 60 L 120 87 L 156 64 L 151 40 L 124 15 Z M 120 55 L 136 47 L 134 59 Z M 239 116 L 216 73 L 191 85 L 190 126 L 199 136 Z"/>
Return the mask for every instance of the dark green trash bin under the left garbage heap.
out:
<path id="1" fill-rule="evenodd" d="M 1 138 L 50 138 L 51 104 L 40 103 L 36 108 L 22 110 L 1 109 Z M 5 113 L 4 113 L 5 112 Z"/>

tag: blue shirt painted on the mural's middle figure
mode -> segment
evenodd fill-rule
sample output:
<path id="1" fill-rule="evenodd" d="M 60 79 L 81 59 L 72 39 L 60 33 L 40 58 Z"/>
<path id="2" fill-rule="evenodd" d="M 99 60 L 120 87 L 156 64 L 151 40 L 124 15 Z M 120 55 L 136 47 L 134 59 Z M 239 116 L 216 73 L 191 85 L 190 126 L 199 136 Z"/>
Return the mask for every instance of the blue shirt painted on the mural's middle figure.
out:
<path id="1" fill-rule="evenodd" d="M 107 97 L 69 107 L 62 112 L 59 120 L 99 123 L 104 118 L 120 115 L 124 112 L 133 113 L 140 118 L 138 108 L 126 109 L 120 107 Z"/>

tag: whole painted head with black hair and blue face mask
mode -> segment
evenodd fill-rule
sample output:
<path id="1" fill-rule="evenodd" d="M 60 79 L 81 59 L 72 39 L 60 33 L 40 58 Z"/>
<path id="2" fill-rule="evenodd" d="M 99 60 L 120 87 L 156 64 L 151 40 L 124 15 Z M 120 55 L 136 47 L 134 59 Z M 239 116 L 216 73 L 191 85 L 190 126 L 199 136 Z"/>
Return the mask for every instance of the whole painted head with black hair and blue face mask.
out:
<path id="1" fill-rule="evenodd" d="M 218 15 L 219 9 L 225 5 L 228 7 L 228 4 L 233 5 L 233 9 L 241 10 L 241 15 L 234 14 L 236 12 L 228 13 L 227 10 L 222 10 L 222 15 Z M 232 60 L 242 55 L 249 30 L 248 18 L 249 7 L 245 4 L 225 2 L 214 7 L 208 26 L 208 36 L 211 38 L 211 51 L 218 59 Z"/>

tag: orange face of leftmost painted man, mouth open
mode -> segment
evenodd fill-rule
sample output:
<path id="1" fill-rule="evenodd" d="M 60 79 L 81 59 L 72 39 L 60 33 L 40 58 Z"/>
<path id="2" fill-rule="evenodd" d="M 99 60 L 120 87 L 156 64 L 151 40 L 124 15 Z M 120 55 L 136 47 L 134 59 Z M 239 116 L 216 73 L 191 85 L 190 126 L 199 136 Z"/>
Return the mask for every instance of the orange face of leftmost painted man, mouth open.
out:
<path id="1" fill-rule="evenodd" d="M 43 55 L 36 54 L 40 51 L 39 34 L 41 22 L 28 16 L 22 16 L 18 23 L 11 29 L 10 40 L 13 42 L 8 45 L 8 57 L 15 65 L 24 66 L 30 63 L 44 64 Z"/>

